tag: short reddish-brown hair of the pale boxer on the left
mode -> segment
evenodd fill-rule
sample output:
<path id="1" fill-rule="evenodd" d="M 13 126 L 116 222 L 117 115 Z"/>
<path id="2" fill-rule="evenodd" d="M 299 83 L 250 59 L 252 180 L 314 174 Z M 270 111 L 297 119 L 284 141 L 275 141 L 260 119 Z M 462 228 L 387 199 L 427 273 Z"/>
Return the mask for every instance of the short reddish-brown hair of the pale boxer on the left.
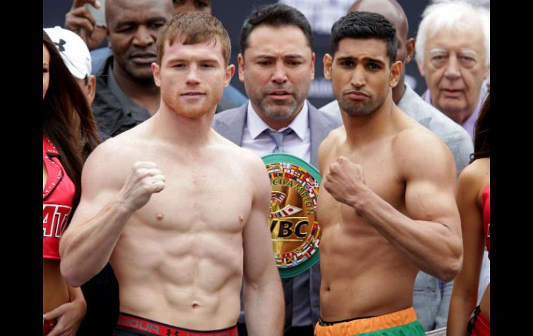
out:
<path id="1" fill-rule="evenodd" d="M 183 12 L 174 15 L 159 32 L 157 37 L 157 64 L 161 65 L 165 53 L 165 42 L 197 44 L 214 41 L 222 46 L 222 56 L 226 67 L 231 57 L 231 42 L 226 28 L 219 19 L 204 12 Z"/>

